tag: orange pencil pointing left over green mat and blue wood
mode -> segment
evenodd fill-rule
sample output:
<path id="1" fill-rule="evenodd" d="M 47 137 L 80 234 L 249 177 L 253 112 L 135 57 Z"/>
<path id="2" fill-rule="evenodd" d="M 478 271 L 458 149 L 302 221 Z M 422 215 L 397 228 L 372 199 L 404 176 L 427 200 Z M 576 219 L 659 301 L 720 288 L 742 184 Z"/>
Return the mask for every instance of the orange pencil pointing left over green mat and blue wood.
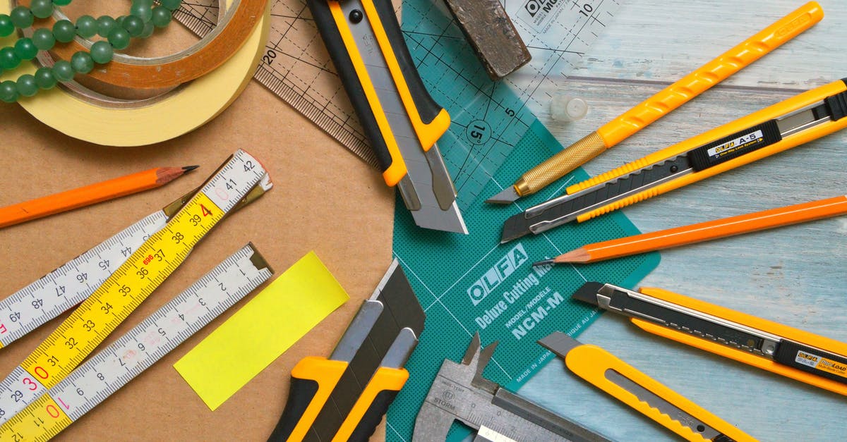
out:
<path id="1" fill-rule="evenodd" d="M 789 224 L 804 223 L 847 213 L 847 196 L 804 202 L 794 206 L 778 207 L 762 212 L 746 213 L 737 217 L 716 219 L 706 223 L 691 224 L 658 232 L 628 236 L 617 240 L 595 242 L 568 251 L 558 257 L 535 262 L 534 266 L 562 262 L 597 262 L 616 257 L 628 257 L 670 247 L 694 244 L 757 230 L 772 229 Z"/>

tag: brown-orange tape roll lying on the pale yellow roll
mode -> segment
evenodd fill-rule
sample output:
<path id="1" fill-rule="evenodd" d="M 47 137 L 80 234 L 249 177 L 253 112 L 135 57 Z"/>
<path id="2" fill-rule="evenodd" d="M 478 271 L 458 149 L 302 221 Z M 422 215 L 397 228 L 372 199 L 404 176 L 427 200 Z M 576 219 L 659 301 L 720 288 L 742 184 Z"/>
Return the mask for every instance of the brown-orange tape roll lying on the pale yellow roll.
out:
<path id="1" fill-rule="evenodd" d="M 21 6 L 30 6 L 30 0 L 19 0 Z M 223 3 L 223 2 L 221 2 Z M 268 0 L 234 0 L 224 6 L 226 14 L 215 29 L 197 44 L 173 55 L 158 58 L 131 57 L 115 53 L 108 64 L 97 66 L 88 76 L 108 85 L 131 89 L 168 89 L 206 75 L 218 68 L 235 52 L 256 28 Z M 52 28 L 56 19 L 67 19 L 58 9 L 53 17 L 39 20 L 38 27 Z M 53 47 L 56 59 L 70 60 L 78 51 L 89 51 L 91 41 L 81 39 Z"/>

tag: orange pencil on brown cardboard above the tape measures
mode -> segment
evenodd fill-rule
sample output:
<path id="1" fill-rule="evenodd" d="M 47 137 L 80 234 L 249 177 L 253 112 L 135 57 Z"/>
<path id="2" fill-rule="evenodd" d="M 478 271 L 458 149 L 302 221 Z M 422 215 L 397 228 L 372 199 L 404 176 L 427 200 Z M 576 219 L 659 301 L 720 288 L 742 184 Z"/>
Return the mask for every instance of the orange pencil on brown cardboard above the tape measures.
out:
<path id="1" fill-rule="evenodd" d="M 43 196 L 28 202 L 0 207 L 0 229 L 13 224 L 24 223 L 31 219 L 53 215 L 53 213 L 62 213 L 77 207 L 118 198 L 119 196 L 147 191 L 160 185 L 166 185 L 170 181 L 185 174 L 185 172 L 197 169 L 197 167 L 185 166 L 184 168 L 145 170 L 144 172 L 122 176 L 114 180 L 86 185 L 85 187 L 71 191 Z"/>

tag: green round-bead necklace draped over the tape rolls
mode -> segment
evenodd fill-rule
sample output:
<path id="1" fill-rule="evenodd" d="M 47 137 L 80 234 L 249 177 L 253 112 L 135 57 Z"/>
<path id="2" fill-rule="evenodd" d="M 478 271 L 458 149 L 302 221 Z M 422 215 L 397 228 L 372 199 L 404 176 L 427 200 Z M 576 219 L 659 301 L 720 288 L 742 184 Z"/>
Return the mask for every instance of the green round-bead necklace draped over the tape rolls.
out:
<path id="1" fill-rule="evenodd" d="M 0 37 L 10 36 L 15 28 L 25 29 L 32 26 L 35 19 L 46 19 L 53 14 L 56 6 L 67 6 L 71 0 L 32 0 L 30 7 L 19 6 L 10 14 L 0 14 Z M 133 37 L 147 38 L 155 28 L 167 26 L 173 12 L 180 8 L 182 0 L 160 0 L 153 7 L 152 0 L 132 0 L 130 14 L 113 19 L 102 15 L 95 19 L 83 15 L 76 20 L 58 20 L 53 29 L 36 29 L 31 37 L 22 37 L 15 41 L 14 47 L 0 49 L 0 72 L 16 69 L 21 62 L 36 58 L 38 51 L 49 51 L 56 42 L 67 43 L 75 36 L 91 38 L 101 36 L 106 40 L 95 41 L 91 51 L 79 51 L 70 61 L 59 60 L 52 68 L 43 67 L 35 75 L 21 75 L 17 81 L 6 80 L 0 83 L 0 100 L 16 102 L 18 97 L 32 97 L 39 89 L 51 89 L 58 82 L 68 82 L 76 74 L 88 74 L 94 64 L 107 64 L 112 61 L 115 50 L 130 46 Z"/>

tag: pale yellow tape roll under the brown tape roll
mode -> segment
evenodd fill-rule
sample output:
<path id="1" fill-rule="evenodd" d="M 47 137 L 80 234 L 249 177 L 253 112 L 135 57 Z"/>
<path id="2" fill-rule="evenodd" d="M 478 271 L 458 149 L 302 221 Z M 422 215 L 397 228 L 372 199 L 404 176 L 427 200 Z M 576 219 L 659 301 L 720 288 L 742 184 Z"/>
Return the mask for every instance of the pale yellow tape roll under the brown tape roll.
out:
<path id="1" fill-rule="evenodd" d="M 230 3 L 231 6 L 231 2 Z M 0 14 L 13 5 L 0 2 Z M 19 104 L 32 116 L 65 135 L 104 146 L 144 146 L 170 140 L 205 124 L 235 101 L 252 79 L 267 41 L 269 8 L 238 52 L 218 69 L 148 100 L 125 101 L 108 97 L 84 97 L 56 87 L 21 97 Z M 0 39 L 0 47 L 12 46 L 17 36 Z M 35 63 L 22 64 L 0 77 L 15 80 L 35 74 Z"/>

